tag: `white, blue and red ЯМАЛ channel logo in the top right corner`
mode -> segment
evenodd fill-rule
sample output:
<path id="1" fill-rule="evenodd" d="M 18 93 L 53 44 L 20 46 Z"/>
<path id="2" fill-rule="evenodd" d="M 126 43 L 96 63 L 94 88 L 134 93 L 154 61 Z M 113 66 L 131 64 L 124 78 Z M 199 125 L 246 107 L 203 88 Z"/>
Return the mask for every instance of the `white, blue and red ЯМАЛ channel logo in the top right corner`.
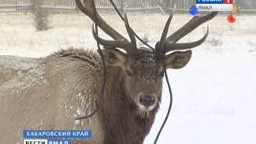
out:
<path id="1" fill-rule="evenodd" d="M 233 10 L 233 0 L 196 0 L 198 11 L 230 11 Z"/>

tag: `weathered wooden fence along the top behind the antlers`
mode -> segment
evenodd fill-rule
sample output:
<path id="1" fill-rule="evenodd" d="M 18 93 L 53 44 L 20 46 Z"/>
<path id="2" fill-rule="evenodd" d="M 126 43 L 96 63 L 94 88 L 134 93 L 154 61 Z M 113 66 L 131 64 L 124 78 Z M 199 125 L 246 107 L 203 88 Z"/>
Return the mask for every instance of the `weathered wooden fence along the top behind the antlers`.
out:
<path id="1" fill-rule="evenodd" d="M 0 13 L 28 13 L 32 11 L 35 0 L 0 0 Z M 78 12 L 75 0 L 42 0 L 44 10 L 50 13 Z M 118 9 L 128 6 L 133 13 L 165 13 L 176 3 L 176 13 L 188 13 L 195 0 L 113 0 Z M 95 0 L 100 13 L 113 13 L 109 0 Z M 238 13 L 256 13 L 256 0 L 234 0 Z"/>

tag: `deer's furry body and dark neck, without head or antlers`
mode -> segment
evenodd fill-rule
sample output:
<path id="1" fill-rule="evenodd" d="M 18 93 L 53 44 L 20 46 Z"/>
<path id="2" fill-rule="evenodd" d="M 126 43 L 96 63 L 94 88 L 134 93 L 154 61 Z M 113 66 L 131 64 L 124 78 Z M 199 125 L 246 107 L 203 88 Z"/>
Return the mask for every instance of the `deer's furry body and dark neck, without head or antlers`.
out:
<path id="1" fill-rule="evenodd" d="M 106 65 L 106 70 L 102 109 L 74 120 L 97 104 L 102 87 L 97 54 L 69 49 L 38 59 L 0 56 L 0 142 L 22 143 L 24 129 L 91 129 L 92 138 L 72 143 L 143 143 L 158 105 L 148 117 L 138 116 L 122 69 Z"/>

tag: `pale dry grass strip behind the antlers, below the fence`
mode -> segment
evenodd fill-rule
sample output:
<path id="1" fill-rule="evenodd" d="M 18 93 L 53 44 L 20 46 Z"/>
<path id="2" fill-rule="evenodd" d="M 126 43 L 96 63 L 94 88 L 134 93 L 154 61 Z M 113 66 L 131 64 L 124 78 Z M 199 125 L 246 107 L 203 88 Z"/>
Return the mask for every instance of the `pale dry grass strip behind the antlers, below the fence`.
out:
<path id="1" fill-rule="evenodd" d="M 109 24 L 126 35 L 124 24 L 117 15 L 103 14 L 103 18 Z M 128 19 L 132 28 L 140 36 L 147 35 L 147 39 L 154 46 L 161 36 L 162 28 L 168 16 L 161 14 L 132 15 L 128 14 Z M 176 15 L 171 24 L 169 32 L 175 31 L 190 20 L 189 15 Z M 254 21 L 256 17 L 237 17 L 235 24 L 228 24 L 225 16 L 216 17 L 207 24 L 210 27 L 209 38 L 213 35 L 220 35 L 223 44 L 215 46 L 214 49 L 238 50 L 239 46 L 248 47 L 247 39 L 255 39 L 256 28 Z M 36 31 L 33 26 L 32 14 L 0 13 L 0 54 L 13 54 L 26 57 L 40 57 L 50 54 L 55 50 L 67 48 L 69 46 L 95 49 L 95 40 L 91 35 L 91 20 L 81 13 L 56 14 L 50 16 L 50 26 L 48 31 Z M 191 42 L 199 39 L 206 30 L 204 24 L 201 28 L 192 31 L 180 42 Z M 101 33 L 102 37 L 106 37 Z M 202 47 L 211 46 L 203 44 Z M 198 49 L 202 50 L 202 49 Z"/>

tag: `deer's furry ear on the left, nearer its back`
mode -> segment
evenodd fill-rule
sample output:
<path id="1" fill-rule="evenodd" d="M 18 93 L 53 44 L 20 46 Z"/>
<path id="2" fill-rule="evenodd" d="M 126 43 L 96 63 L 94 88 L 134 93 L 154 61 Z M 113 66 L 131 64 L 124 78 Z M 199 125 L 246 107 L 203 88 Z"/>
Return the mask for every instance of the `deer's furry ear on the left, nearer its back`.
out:
<path id="1" fill-rule="evenodd" d="M 98 50 L 97 50 L 98 52 Z M 121 50 L 102 50 L 103 57 L 109 65 L 124 66 L 127 56 Z"/>

